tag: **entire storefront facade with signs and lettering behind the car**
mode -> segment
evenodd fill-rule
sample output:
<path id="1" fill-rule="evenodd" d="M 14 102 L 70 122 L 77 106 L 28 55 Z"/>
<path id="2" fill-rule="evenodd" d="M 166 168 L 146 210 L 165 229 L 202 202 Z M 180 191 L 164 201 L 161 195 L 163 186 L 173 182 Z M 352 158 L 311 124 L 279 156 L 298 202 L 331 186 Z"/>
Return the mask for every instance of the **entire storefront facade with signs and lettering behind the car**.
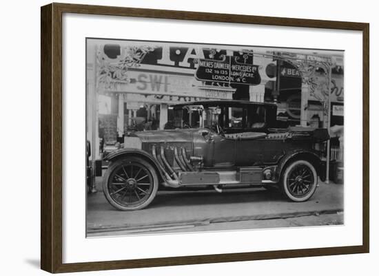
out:
<path id="1" fill-rule="evenodd" d="M 309 65 L 314 68 L 306 75 Z M 195 100 L 276 103 L 284 127 L 343 125 L 343 55 L 89 40 L 87 76 L 87 131 L 95 159 L 103 147 L 121 144 L 127 131 L 164 129 L 170 106 Z"/>

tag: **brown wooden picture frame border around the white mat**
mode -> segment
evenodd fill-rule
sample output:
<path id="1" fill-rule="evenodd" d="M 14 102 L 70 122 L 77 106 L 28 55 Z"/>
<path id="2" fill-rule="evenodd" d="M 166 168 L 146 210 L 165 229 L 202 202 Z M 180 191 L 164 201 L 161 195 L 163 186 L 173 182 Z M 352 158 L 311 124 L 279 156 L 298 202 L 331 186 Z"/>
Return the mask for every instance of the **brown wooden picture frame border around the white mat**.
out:
<path id="1" fill-rule="evenodd" d="M 129 259 L 107 262 L 62 262 L 62 14 L 98 14 L 245 23 L 287 27 L 356 30 L 362 32 L 363 167 L 362 167 L 362 245 L 296 250 L 263 251 Z M 41 268 L 50 273 L 119 268 L 142 268 L 182 264 L 238 262 L 258 259 L 309 257 L 369 252 L 369 24 L 240 14 L 216 14 L 174 10 L 150 10 L 52 3 L 41 8 Z"/>

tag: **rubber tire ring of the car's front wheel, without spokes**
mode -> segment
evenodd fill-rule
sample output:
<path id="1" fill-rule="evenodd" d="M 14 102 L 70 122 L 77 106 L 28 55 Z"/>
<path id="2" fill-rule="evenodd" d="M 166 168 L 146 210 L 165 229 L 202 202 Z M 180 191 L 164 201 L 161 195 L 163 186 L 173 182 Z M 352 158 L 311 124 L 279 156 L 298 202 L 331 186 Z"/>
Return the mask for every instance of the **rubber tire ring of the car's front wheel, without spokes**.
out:
<path id="1" fill-rule="evenodd" d="M 130 162 L 137 162 L 137 163 L 143 165 L 146 169 L 148 169 L 150 171 L 150 173 L 152 174 L 152 179 L 153 179 L 154 183 L 153 183 L 152 193 L 150 194 L 150 197 L 147 198 L 147 200 L 145 202 L 143 202 L 142 204 L 140 204 L 138 206 L 127 207 L 127 206 L 123 206 L 123 205 L 117 203 L 110 196 L 110 192 L 108 190 L 108 181 L 109 181 L 109 178 L 112 175 L 112 171 L 114 171 L 114 169 L 119 167 L 121 164 L 128 164 Z M 156 191 L 158 191 L 158 176 L 156 174 L 156 171 L 155 171 L 154 167 L 152 167 L 152 165 L 149 162 L 146 162 L 145 160 L 143 160 L 142 158 L 139 158 L 139 157 L 130 156 L 127 158 L 118 159 L 115 162 L 112 162 L 110 164 L 110 166 L 108 167 L 107 171 L 104 174 L 103 192 L 104 192 L 105 198 L 107 199 L 107 201 L 112 206 L 114 206 L 114 208 L 119 209 L 121 211 L 134 211 L 134 210 L 144 209 L 147 205 L 149 205 L 152 202 L 152 200 L 154 200 L 155 195 L 156 195 Z"/>

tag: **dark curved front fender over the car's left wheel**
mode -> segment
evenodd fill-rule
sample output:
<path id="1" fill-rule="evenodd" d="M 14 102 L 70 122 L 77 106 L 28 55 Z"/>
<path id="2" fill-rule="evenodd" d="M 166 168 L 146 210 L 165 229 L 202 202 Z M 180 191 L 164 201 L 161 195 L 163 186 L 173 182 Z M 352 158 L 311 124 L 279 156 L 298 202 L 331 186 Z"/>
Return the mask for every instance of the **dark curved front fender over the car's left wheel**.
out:
<path id="1" fill-rule="evenodd" d="M 132 149 L 132 148 L 125 148 L 125 149 L 117 149 L 116 151 L 112 151 L 110 154 L 105 156 L 103 160 L 105 161 L 114 161 L 118 160 L 119 158 L 125 158 L 128 156 L 136 156 L 143 158 L 143 160 L 146 160 L 147 162 L 150 162 L 154 169 L 156 170 L 156 173 L 158 173 L 158 178 L 159 180 L 163 180 L 163 173 L 161 171 L 160 166 L 158 164 L 158 161 L 154 159 L 154 157 L 150 154 L 147 153 L 146 151 L 143 151 L 142 149 Z"/>

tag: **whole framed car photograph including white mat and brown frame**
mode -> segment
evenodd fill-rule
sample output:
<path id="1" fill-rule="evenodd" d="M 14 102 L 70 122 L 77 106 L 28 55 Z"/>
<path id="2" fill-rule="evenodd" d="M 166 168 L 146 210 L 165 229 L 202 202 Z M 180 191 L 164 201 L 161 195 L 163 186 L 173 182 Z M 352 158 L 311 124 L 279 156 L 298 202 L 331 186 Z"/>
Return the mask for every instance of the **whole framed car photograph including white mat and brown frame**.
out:
<path id="1" fill-rule="evenodd" d="M 41 268 L 369 252 L 369 24 L 41 8 Z"/>

